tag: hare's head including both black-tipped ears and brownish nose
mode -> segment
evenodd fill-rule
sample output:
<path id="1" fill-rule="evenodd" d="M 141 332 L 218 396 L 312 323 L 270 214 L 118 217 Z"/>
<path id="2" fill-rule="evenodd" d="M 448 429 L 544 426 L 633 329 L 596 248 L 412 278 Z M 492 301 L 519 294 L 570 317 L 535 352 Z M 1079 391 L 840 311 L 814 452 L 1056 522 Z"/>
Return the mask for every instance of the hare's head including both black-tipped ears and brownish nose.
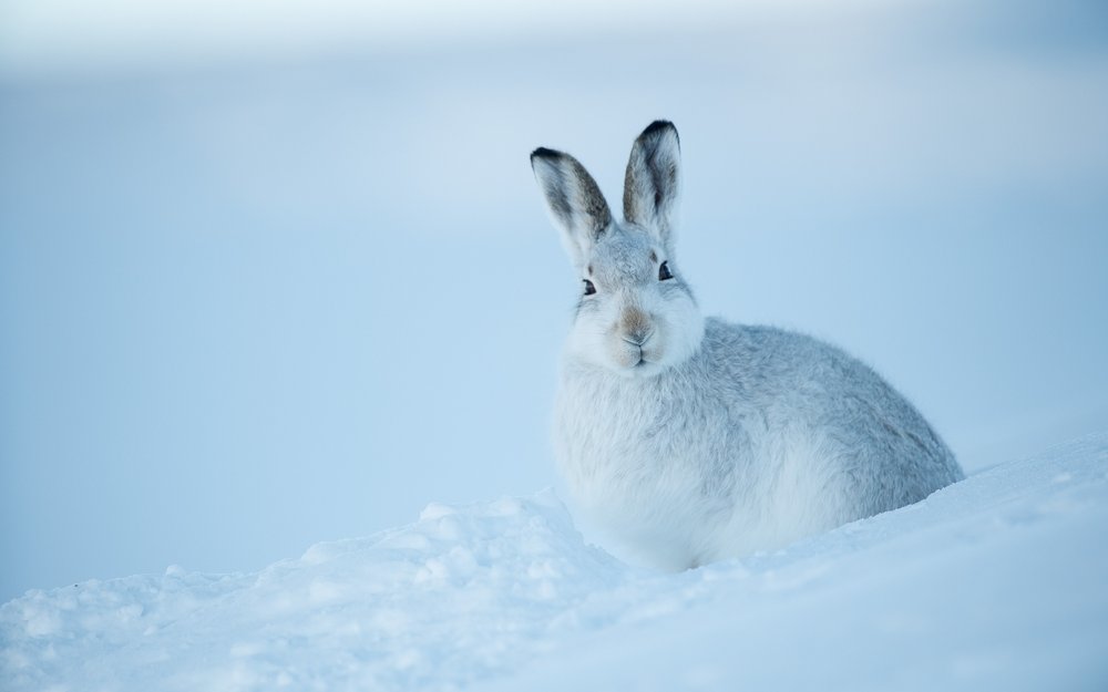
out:
<path id="1" fill-rule="evenodd" d="M 574 157 L 538 148 L 531 166 L 582 279 L 568 354 L 629 376 L 691 355 L 704 318 L 674 260 L 680 144 L 673 123 L 657 121 L 635 140 L 623 221 Z"/>

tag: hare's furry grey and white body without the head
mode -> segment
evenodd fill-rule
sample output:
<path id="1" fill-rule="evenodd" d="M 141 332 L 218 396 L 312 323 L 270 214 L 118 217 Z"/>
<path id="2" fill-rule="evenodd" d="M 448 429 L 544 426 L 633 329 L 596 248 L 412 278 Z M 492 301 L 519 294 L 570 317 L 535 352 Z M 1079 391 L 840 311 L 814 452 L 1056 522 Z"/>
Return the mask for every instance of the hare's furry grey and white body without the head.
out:
<path id="1" fill-rule="evenodd" d="M 778 548 L 962 477 L 864 364 L 801 334 L 715 319 L 693 357 L 653 378 L 568 355 L 554 434 L 579 508 L 671 569 Z"/>

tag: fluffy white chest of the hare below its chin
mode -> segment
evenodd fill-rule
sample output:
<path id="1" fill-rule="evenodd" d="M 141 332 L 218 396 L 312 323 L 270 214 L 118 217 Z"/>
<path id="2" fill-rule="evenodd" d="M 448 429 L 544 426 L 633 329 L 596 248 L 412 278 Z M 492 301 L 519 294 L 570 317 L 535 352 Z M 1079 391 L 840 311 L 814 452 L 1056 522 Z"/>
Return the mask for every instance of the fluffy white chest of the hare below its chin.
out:
<path id="1" fill-rule="evenodd" d="M 634 384 L 634 382 L 632 383 Z M 706 448 L 696 414 L 624 383 L 563 383 L 555 405 L 562 476 L 586 524 L 671 569 L 709 552 L 731 506 L 722 447 Z M 701 413 L 702 415 L 702 413 Z M 718 446 L 718 445 L 717 445 Z"/>

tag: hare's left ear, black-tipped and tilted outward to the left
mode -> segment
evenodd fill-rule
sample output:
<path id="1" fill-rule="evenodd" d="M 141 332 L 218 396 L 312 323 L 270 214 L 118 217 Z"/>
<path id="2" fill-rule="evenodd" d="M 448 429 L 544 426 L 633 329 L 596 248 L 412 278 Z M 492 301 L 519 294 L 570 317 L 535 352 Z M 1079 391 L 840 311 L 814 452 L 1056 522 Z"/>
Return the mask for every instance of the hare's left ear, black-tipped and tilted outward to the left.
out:
<path id="1" fill-rule="evenodd" d="M 531 167 L 546 196 L 562 244 L 575 266 L 585 264 L 589 248 L 612 224 L 612 211 L 596 180 L 576 158 L 554 149 L 531 153 Z"/>

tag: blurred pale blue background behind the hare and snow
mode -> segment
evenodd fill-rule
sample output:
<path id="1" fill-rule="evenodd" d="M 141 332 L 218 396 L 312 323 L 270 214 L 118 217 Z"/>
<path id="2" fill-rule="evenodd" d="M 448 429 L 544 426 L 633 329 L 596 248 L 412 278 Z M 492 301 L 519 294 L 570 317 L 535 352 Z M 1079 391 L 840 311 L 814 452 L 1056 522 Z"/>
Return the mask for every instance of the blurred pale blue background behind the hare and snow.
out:
<path id="1" fill-rule="evenodd" d="M 0 601 L 555 484 L 527 155 L 658 117 L 707 313 L 971 473 L 1108 427 L 1102 1 L 2 0 Z"/>

